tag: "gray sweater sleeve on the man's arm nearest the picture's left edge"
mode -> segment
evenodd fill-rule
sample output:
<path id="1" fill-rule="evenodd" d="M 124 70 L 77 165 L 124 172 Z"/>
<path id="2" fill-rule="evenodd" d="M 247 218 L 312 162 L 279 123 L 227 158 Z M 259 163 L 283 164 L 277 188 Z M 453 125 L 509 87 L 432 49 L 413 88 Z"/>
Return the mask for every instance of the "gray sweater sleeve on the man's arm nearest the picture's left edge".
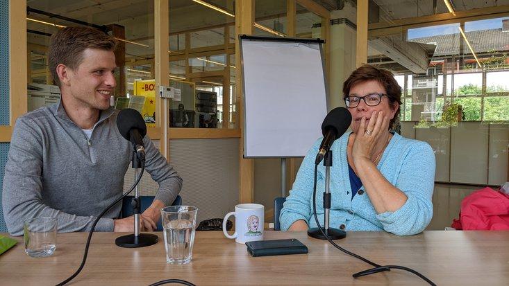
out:
<path id="1" fill-rule="evenodd" d="M 16 121 L 3 177 L 2 208 L 11 235 L 23 235 L 25 220 L 56 217 L 58 232 L 90 231 L 97 217 L 64 213 L 42 202 L 42 132 L 26 118 Z M 113 220 L 101 218 L 96 231 L 113 231 Z"/>

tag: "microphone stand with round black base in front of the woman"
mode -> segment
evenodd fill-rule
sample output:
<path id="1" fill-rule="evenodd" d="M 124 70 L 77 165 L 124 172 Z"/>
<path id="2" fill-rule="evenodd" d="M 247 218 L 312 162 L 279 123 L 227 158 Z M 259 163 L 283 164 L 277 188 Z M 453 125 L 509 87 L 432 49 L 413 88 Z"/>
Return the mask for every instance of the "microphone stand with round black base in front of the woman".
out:
<path id="1" fill-rule="evenodd" d="M 327 150 L 324 157 L 324 166 L 325 166 L 325 192 L 324 192 L 324 228 L 319 229 L 314 227 L 312 229 L 308 229 L 308 235 L 312 238 L 318 238 L 320 240 L 340 240 L 347 236 L 345 231 L 341 229 L 333 229 L 329 228 L 329 210 L 331 208 L 331 192 L 329 188 L 329 182 L 331 181 L 331 167 L 332 167 L 332 151 Z M 316 212 L 316 210 L 315 210 Z M 325 236 L 324 236 L 325 234 Z"/>

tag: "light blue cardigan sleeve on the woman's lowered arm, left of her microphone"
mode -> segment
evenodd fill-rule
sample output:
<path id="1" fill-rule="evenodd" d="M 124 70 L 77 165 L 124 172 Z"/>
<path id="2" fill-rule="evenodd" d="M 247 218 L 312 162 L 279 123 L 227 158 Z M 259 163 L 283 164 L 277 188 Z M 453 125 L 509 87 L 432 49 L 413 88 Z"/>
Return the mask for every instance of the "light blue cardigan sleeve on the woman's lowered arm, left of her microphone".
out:
<path id="1" fill-rule="evenodd" d="M 320 140 L 312 146 L 306 157 L 304 157 L 292 190 L 290 190 L 290 195 L 286 198 L 285 204 L 283 204 L 283 209 L 279 216 L 281 231 L 287 231 L 297 220 L 305 220 L 309 225 L 312 215 L 310 200 L 315 180 L 315 157 L 318 152 L 319 143 Z"/>

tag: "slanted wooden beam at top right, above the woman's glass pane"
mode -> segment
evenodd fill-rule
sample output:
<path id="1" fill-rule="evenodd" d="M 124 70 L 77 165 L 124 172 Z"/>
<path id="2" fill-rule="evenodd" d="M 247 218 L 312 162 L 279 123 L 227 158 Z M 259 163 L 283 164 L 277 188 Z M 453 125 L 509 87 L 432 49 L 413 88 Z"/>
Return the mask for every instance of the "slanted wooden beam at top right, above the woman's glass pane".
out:
<path id="1" fill-rule="evenodd" d="M 369 24 L 369 38 L 387 35 L 400 35 L 401 33 L 406 33 L 406 30 L 409 28 L 438 26 L 465 21 L 492 19 L 494 17 L 506 17 L 509 15 L 509 5 L 456 11 L 455 14 L 456 15 L 452 15 L 447 12 L 436 15 L 393 20 L 392 23 L 382 22 Z"/>

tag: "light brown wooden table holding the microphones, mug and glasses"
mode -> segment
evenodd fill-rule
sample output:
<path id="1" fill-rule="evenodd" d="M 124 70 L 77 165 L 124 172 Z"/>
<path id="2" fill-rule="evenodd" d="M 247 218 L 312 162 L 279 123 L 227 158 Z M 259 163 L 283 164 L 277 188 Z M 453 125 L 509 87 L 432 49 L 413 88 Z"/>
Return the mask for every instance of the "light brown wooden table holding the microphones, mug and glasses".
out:
<path id="1" fill-rule="evenodd" d="M 149 285 L 169 278 L 196 285 L 426 285 L 401 270 L 354 279 L 353 273 L 370 265 L 305 232 L 266 231 L 265 240 L 298 238 L 308 254 L 256 258 L 221 232 L 197 232 L 188 265 L 168 265 L 157 234 L 158 244 L 123 249 L 115 246 L 120 233 L 94 233 L 87 263 L 71 285 Z M 49 258 L 28 257 L 22 237 L 15 238 L 19 243 L 0 256 L 0 284 L 61 282 L 80 264 L 86 235 L 58 234 Z M 425 231 L 410 237 L 349 232 L 337 242 L 378 264 L 415 269 L 437 285 L 509 285 L 509 231 Z"/>

